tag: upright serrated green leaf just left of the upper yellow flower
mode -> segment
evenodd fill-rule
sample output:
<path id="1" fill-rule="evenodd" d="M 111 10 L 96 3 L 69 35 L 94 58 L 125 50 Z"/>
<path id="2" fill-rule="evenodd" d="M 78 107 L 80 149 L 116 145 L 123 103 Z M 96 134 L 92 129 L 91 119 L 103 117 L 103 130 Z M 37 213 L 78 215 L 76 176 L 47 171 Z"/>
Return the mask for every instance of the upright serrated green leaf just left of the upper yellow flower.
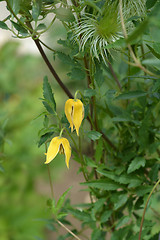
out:
<path id="1" fill-rule="evenodd" d="M 54 94 L 52 93 L 52 89 L 48 82 L 47 76 L 45 76 L 43 80 L 43 96 L 45 98 L 45 104 L 44 104 L 45 107 L 47 106 L 47 104 L 51 105 L 53 106 L 53 110 L 56 111 L 56 102 L 54 99 Z"/>

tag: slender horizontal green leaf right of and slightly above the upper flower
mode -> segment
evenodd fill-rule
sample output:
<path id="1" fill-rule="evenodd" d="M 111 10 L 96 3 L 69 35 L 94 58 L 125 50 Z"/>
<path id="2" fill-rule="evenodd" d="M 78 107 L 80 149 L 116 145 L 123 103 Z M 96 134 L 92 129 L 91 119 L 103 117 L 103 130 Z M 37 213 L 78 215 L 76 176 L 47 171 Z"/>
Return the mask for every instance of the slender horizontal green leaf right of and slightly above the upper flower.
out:
<path id="1" fill-rule="evenodd" d="M 140 91 L 140 90 L 130 91 L 130 92 L 120 94 L 118 97 L 115 98 L 115 100 L 129 100 L 132 98 L 139 98 L 146 95 L 147 93 L 144 91 Z"/>

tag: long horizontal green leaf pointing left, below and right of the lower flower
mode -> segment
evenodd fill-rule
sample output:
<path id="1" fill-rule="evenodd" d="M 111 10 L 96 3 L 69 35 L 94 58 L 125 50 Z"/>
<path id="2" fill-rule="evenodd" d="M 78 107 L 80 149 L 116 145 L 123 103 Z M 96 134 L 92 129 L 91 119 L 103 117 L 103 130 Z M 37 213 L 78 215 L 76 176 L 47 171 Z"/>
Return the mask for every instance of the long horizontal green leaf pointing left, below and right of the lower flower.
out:
<path id="1" fill-rule="evenodd" d="M 84 183 L 81 183 L 81 185 L 85 185 L 88 187 L 94 187 L 94 188 L 98 188 L 101 190 L 107 190 L 107 191 L 114 191 L 121 187 L 120 184 L 117 184 L 108 179 L 98 179 L 95 181 L 84 182 Z"/>

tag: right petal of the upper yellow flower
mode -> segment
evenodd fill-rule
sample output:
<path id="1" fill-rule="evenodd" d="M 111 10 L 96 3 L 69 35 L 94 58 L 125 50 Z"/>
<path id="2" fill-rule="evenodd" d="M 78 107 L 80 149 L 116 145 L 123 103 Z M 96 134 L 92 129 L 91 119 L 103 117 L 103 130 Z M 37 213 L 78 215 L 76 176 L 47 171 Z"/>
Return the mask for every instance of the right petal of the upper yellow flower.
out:
<path id="1" fill-rule="evenodd" d="M 84 118 L 83 103 L 79 99 L 77 99 L 76 101 L 74 101 L 73 124 L 75 126 L 78 136 L 79 136 L 79 128 L 81 126 L 83 118 Z"/>

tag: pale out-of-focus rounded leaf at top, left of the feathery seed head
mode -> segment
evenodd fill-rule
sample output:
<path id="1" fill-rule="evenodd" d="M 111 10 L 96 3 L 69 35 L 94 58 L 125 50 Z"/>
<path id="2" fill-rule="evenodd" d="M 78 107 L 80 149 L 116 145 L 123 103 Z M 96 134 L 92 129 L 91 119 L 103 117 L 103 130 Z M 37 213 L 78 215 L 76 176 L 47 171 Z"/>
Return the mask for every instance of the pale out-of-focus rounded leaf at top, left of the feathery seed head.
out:
<path id="1" fill-rule="evenodd" d="M 75 21 L 74 15 L 73 15 L 71 9 L 69 9 L 69 8 L 59 7 L 57 9 L 53 10 L 53 12 L 56 14 L 56 17 L 60 21 L 64 21 L 64 22 Z"/>

